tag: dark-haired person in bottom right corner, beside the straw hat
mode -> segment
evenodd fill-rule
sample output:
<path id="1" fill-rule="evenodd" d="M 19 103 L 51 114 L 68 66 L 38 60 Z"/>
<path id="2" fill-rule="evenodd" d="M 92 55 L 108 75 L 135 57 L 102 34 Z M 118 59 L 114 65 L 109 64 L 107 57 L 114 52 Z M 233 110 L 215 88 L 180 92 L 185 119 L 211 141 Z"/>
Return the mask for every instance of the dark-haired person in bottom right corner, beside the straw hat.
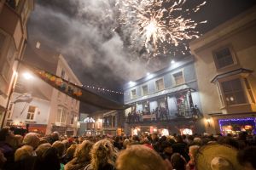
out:
<path id="1" fill-rule="evenodd" d="M 244 170 L 256 170 L 256 146 L 249 146 L 244 150 L 239 150 L 237 160 Z"/>

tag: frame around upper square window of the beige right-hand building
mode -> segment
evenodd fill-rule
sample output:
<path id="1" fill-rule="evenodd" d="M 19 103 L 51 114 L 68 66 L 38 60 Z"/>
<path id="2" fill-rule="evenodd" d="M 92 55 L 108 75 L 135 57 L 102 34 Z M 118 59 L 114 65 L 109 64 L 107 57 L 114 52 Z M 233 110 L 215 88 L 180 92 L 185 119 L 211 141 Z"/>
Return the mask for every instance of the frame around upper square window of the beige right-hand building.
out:
<path id="1" fill-rule="evenodd" d="M 218 64 L 218 59 L 217 59 L 217 53 L 220 52 L 221 50 L 224 50 L 225 48 L 228 48 L 230 50 L 230 54 L 231 54 L 231 57 L 233 59 L 233 64 L 231 65 L 225 65 L 224 67 L 219 67 L 219 64 Z M 232 48 L 231 45 L 225 45 L 225 46 L 222 46 L 220 48 L 216 48 L 212 51 L 212 56 L 213 56 L 213 60 L 214 60 L 214 64 L 215 64 L 215 67 L 217 70 L 222 70 L 222 69 L 225 69 L 225 68 L 229 68 L 230 66 L 233 66 L 233 65 L 237 65 L 237 59 L 236 59 L 236 54 Z"/>

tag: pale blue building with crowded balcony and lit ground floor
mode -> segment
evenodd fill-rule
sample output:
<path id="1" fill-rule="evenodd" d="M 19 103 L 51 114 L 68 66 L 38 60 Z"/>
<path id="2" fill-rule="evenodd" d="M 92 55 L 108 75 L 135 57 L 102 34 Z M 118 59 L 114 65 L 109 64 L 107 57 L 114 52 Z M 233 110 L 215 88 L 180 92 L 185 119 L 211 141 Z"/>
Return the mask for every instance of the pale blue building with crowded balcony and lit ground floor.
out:
<path id="1" fill-rule="evenodd" d="M 125 84 L 125 133 L 204 132 L 194 62 L 188 56 Z"/>

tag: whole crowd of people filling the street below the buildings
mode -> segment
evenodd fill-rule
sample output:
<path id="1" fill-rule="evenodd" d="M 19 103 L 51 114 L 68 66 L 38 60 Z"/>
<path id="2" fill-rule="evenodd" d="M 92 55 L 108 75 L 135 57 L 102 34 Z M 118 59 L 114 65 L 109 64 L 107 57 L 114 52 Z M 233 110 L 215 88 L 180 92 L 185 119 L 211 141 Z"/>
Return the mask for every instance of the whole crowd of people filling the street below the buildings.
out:
<path id="1" fill-rule="evenodd" d="M 3 170 L 240 170 L 256 169 L 256 139 L 237 136 L 177 135 L 46 136 L 0 130 Z"/>

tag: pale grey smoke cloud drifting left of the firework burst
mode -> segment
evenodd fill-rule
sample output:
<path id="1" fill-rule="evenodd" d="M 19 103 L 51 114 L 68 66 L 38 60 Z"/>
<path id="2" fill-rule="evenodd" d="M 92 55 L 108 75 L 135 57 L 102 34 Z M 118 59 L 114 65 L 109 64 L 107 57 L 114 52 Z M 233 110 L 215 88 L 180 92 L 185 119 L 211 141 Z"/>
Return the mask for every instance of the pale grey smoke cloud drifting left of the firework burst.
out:
<path id="1" fill-rule="evenodd" d="M 146 74 L 147 62 L 131 61 L 124 42 L 112 31 L 113 2 L 63 1 L 68 2 L 70 11 L 55 8 L 59 3 L 51 6 L 54 2 L 38 1 L 31 15 L 30 38 L 63 54 L 82 82 L 90 79 L 99 84 L 108 84 L 109 80 L 123 83 Z"/>

